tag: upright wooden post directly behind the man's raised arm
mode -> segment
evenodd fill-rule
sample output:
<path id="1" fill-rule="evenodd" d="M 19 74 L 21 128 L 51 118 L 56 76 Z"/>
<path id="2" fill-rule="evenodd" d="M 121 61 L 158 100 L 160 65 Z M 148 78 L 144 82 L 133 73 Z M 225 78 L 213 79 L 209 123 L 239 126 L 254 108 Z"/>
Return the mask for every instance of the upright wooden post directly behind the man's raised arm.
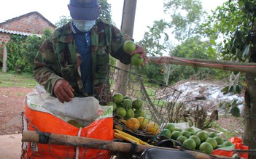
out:
<path id="1" fill-rule="evenodd" d="M 123 2 L 123 17 L 121 30 L 123 30 L 128 36 L 131 37 L 133 37 L 136 2 L 136 0 L 124 0 Z M 124 65 L 119 60 L 117 60 L 116 66 L 117 68 L 121 68 L 123 70 L 130 70 L 130 65 Z M 126 94 L 128 73 L 125 73 L 124 71 L 119 71 L 119 74 L 117 76 L 119 78 L 115 78 L 115 81 L 117 81 L 116 83 L 118 84 L 114 85 L 114 90 L 118 90 L 121 94 Z"/>

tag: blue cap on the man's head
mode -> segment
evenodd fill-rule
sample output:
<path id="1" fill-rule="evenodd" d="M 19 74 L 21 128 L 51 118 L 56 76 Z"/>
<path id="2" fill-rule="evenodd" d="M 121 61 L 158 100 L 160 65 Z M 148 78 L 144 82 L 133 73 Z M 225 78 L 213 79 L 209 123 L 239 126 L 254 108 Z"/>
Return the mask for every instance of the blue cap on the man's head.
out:
<path id="1" fill-rule="evenodd" d="M 98 0 L 70 0 L 69 11 L 74 20 L 96 20 Z"/>

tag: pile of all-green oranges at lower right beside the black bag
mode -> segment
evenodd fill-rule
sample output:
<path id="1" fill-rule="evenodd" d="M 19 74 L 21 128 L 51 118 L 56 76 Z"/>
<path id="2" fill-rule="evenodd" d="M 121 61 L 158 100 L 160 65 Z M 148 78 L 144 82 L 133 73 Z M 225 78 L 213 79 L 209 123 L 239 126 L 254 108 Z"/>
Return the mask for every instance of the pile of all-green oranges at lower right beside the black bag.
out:
<path id="1" fill-rule="evenodd" d="M 214 132 L 195 131 L 192 127 L 185 130 L 176 129 L 174 124 L 168 123 L 158 134 L 159 139 L 174 139 L 192 150 L 201 150 L 211 154 L 220 147 L 229 147 L 233 144 Z"/>

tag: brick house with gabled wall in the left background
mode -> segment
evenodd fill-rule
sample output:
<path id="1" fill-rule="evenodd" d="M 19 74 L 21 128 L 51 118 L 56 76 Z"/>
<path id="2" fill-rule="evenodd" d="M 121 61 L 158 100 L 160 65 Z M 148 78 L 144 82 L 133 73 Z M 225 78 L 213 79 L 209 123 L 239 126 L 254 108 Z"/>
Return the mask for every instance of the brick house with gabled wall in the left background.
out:
<path id="1" fill-rule="evenodd" d="M 44 29 L 55 30 L 56 26 L 50 23 L 39 12 L 29 12 L 20 17 L 14 17 L 10 20 L 0 23 L 0 58 L 3 58 L 4 63 L 4 48 L 8 43 L 12 34 L 22 36 L 42 36 Z M 8 52 L 5 51 L 5 52 Z M 4 65 L 3 65 L 4 67 Z"/>

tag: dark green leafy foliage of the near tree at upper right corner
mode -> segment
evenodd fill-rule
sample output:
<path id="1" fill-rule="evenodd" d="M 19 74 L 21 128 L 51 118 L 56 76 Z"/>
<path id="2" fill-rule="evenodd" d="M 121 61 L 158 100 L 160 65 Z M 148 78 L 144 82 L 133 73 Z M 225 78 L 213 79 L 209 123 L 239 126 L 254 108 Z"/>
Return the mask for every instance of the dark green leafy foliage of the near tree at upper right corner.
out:
<path id="1" fill-rule="evenodd" d="M 212 41 L 217 41 L 222 48 L 224 60 L 246 62 L 252 56 L 250 49 L 255 47 L 256 1 L 227 1 L 213 12 L 209 20 L 201 25 Z"/>

